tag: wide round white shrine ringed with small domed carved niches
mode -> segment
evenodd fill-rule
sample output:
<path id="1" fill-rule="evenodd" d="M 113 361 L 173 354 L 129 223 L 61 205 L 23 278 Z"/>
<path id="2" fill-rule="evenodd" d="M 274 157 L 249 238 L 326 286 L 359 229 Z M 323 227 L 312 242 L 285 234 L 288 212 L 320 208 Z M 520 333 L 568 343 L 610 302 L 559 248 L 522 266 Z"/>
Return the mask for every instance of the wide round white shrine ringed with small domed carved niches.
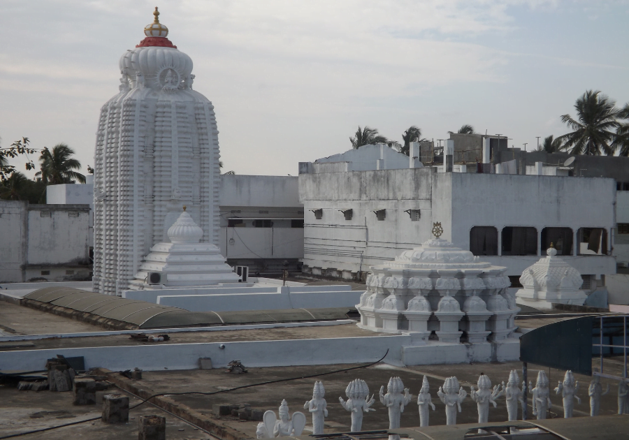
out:
<path id="1" fill-rule="evenodd" d="M 458 344 L 463 332 L 472 344 L 504 340 L 516 329 L 519 311 L 505 270 L 447 240 L 428 240 L 371 267 L 356 305 L 359 326 L 410 332 L 417 344 L 426 344 L 432 331 L 446 343 Z"/>

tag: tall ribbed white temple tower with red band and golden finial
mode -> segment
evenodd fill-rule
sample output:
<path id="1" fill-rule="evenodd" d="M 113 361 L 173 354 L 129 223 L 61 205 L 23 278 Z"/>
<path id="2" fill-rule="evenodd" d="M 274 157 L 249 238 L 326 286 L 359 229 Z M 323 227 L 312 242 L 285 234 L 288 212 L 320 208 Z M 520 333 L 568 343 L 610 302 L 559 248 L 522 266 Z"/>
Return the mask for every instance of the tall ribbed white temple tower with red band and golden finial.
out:
<path id="1" fill-rule="evenodd" d="M 154 22 L 120 58 L 94 154 L 94 291 L 120 295 L 182 206 L 217 244 L 219 145 L 214 107 L 192 90 L 192 60 Z"/>

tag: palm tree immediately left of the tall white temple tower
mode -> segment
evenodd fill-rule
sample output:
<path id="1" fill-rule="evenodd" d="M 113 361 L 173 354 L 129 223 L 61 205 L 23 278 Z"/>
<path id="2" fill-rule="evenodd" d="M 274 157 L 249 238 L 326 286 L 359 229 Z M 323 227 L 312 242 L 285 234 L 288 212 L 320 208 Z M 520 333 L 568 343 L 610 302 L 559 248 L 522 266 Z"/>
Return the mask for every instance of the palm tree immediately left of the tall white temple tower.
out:
<path id="1" fill-rule="evenodd" d="M 52 150 L 45 147 L 39 156 L 40 169 L 35 175 L 41 176 L 46 184 L 85 183 L 85 176 L 73 170 L 80 170 L 81 163 L 72 158 L 74 150 L 66 144 L 57 144 Z"/>

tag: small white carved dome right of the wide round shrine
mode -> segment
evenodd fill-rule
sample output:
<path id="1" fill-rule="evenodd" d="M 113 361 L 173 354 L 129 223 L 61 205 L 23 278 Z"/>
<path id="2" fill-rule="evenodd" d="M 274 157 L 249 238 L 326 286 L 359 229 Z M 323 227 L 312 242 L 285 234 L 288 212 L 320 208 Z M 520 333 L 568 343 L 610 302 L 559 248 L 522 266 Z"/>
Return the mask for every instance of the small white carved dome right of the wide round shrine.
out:
<path id="1" fill-rule="evenodd" d="M 546 253 L 545 258 L 522 272 L 516 302 L 535 309 L 551 309 L 553 304 L 583 305 L 587 295 L 580 290 L 581 274 L 557 256 L 552 243 Z"/>

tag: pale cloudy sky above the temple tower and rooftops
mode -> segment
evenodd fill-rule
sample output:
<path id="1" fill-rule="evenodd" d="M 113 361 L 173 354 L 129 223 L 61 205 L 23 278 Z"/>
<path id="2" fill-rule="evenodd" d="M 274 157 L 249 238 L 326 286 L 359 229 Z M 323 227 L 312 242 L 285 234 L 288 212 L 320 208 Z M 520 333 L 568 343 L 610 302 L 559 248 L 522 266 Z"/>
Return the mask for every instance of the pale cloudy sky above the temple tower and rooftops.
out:
<path id="1" fill-rule="evenodd" d="M 471 124 L 535 149 L 584 91 L 629 102 L 629 1 L 0 0 L 0 147 L 64 142 L 87 173 L 154 6 L 237 174 L 297 175 L 358 126 L 401 141 Z"/>

